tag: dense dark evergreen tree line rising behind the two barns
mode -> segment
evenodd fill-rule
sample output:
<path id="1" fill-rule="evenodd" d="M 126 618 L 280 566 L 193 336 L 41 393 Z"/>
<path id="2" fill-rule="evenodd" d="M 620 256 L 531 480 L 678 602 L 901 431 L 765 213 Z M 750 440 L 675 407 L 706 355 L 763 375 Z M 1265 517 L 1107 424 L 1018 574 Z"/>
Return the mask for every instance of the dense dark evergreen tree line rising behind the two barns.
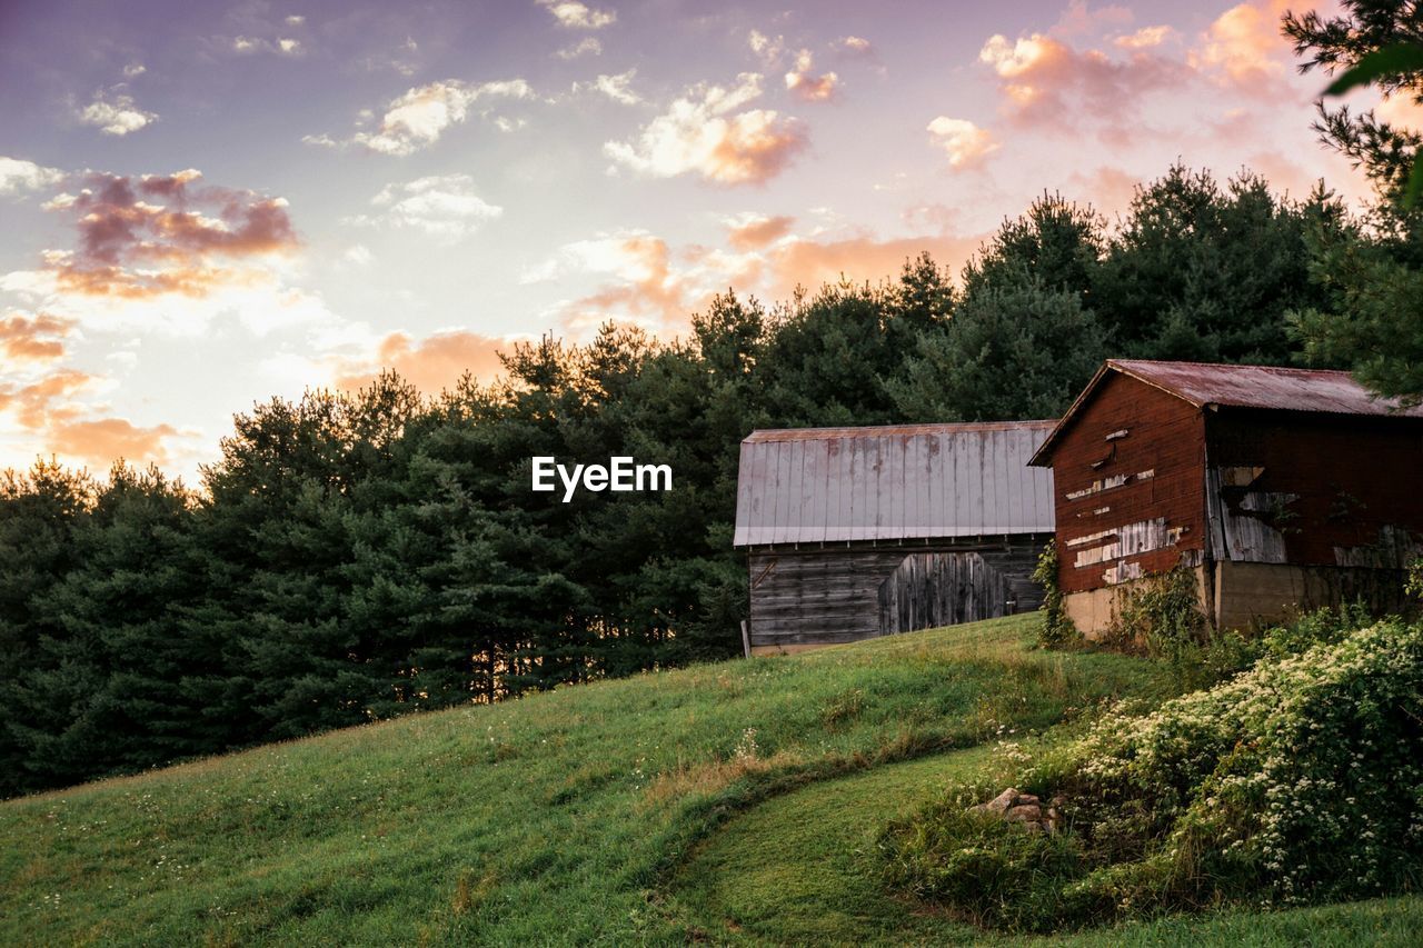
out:
<path id="1" fill-rule="evenodd" d="M 1120 219 L 1044 195 L 958 279 L 764 306 L 683 339 L 546 337 L 425 397 L 394 374 L 233 420 L 191 488 L 122 461 L 0 475 L 0 793 L 734 655 L 754 428 L 1054 417 L 1107 356 L 1355 364 L 1311 336 L 1338 255 L 1417 272 L 1322 186 L 1171 168 Z M 1353 258 L 1350 258 L 1353 259 Z M 532 493 L 531 458 L 669 464 L 666 493 Z"/>

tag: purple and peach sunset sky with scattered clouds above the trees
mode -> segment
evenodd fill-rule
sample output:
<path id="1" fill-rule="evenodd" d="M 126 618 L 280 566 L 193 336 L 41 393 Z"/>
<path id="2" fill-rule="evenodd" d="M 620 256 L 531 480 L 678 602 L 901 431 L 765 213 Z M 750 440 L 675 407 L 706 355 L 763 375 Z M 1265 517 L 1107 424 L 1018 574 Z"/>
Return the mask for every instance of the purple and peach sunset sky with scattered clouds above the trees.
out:
<path id="1" fill-rule="evenodd" d="M 195 484 L 272 396 L 958 272 L 1177 161 L 1360 201 L 1285 7 L 6 0 L 0 468 Z"/>

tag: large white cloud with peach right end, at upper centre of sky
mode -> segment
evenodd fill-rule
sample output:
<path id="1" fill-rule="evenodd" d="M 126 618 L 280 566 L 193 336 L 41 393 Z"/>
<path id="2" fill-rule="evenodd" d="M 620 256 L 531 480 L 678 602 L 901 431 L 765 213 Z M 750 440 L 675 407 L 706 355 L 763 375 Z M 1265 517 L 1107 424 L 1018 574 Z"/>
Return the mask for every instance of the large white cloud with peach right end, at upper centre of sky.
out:
<path id="1" fill-rule="evenodd" d="M 724 185 L 763 184 L 805 144 L 805 131 L 773 110 L 737 111 L 761 95 L 761 77 L 741 73 L 737 85 L 699 84 L 653 118 L 633 142 L 606 142 L 603 154 L 653 178 L 697 174 Z"/>

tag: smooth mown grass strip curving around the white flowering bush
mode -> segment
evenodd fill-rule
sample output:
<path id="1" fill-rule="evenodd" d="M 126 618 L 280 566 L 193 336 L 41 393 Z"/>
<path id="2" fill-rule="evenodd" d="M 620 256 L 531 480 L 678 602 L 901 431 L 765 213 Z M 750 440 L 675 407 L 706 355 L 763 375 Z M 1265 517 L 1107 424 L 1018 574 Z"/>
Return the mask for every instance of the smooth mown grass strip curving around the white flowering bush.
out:
<path id="1" fill-rule="evenodd" d="M 887 894 L 872 854 L 879 828 L 951 780 L 982 773 L 989 757 L 988 747 L 935 754 L 768 800 L 693 850 L 673 880 L 673 897 L 717 942 L 1073 948 L 1423 944 L 1423 898 L 1178 915 L 1067 937 L 1012 938 Z"/>

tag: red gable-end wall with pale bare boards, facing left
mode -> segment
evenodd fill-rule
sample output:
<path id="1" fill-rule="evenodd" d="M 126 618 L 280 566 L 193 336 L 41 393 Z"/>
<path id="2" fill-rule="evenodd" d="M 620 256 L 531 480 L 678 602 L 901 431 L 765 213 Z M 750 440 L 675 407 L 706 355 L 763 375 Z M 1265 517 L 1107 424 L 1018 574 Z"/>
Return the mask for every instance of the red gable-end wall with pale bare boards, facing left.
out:
<path id="1" fill-rule="evenodd" d="M 1053 451 L 1063 592 L 1117 585 L 1185 561 L 1207 544 L 1201 411 L 1113 373 Z"/>

